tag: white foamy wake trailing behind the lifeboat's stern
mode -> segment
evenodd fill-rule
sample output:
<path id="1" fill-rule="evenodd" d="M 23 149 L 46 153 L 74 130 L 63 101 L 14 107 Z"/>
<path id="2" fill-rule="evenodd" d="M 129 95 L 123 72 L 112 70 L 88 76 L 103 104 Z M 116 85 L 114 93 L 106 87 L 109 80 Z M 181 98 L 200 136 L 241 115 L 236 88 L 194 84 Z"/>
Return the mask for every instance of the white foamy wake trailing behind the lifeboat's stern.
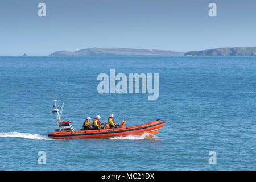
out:
<path id="1" fill-rule="evenodd" d="M 31 133 L 18 133 L 14 132 L 1 132 L 0 137 L 18 137 L 18 138 L 27 138 L 32 140 L 53 140 L 47 136 Z"/>

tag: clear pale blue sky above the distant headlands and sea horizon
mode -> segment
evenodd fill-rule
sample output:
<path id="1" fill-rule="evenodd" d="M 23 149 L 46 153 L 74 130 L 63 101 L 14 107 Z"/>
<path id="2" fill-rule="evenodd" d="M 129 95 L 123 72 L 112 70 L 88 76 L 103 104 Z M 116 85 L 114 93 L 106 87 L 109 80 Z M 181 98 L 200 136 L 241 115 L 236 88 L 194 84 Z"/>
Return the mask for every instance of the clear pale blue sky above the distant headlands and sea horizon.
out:
<path id="1" fill-rule="evenodd" d="M 46 17 L 38 4 L 46 3 Z M 208 5 L 217 4 L 217 17 Z M 256 1 L 0 1 L 0 55 L 124 47 L 191 51 L 256 46 Z"/>

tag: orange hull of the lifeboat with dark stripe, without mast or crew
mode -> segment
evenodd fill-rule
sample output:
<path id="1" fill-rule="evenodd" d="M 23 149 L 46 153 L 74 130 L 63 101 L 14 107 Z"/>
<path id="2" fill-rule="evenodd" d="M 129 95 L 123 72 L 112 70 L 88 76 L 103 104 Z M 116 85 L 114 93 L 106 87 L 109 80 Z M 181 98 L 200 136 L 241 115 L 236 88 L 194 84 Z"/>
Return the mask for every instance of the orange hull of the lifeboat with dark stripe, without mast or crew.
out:
<path id="1" fill-rule="evenodd" d="M 48 137 L 52 139 L 108 139 L 113 137 L 125 137 L 127 135 L 142 135 L 147 133 L 147 137 L 153 137 L 161 127 L 164 126 L 163 120 L 156 120 L 150 123 L 137 126 L 127 126 L 116 129 L 104 129 L 104 130 L 76 130 L 73 132 L 52 132 L 48 134 Z"/>

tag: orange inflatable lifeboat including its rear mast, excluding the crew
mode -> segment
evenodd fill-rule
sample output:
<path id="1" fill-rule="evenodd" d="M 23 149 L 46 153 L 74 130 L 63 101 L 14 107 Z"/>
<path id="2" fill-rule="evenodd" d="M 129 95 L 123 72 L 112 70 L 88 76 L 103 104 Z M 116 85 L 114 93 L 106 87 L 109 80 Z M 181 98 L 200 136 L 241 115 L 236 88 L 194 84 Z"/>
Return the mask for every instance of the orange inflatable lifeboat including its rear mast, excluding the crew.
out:
<path id="1" fill-rule="evenodd" d="M 64 104 L 63 104 L 64 105 Z M 106 129 L 102 130 L 73 130 L 70 121 L 61 121 L 60 115 L 58 112 L 58 107 L 56 106 L 55 100 L 55 113 L 57 114 L 57 120 L 60 129 L 55 130 L 52 133 L 48 134 L 48 137 L 52 139 L 72 139 L 72 138 L 81 138 L 81 139 L 108 139 L 113 137 L 125 137 L 127 135 L 142 135 L 147 133 L 147 138 L 153 137 L 161 127 L 164 126 L 164 121 L 161 119 L 157 119 L 150 123 L 145 123 L 137 126 L 125 126 L 126 121 L 123 120 L 118 128 Z M 62 113 L 61 108 L 61 113 Z M 105 126 L 108 126 L 106 124 Z"/>

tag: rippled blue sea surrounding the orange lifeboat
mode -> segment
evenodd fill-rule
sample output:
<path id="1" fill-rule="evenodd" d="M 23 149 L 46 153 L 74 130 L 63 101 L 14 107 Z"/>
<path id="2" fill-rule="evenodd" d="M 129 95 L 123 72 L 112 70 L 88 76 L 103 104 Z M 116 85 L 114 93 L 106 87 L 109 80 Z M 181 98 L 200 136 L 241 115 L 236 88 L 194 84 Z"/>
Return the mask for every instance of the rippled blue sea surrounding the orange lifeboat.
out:
<path id="1" fill-rule="evenodd" d="M 97 76 L 112 68 L 159 73 L 158 99 L 98 93 Z M 1 56 L 0 82 L 0 170 L 256 169 L 256 57 Z M 53 140 L 53 100 L 65 102 L 61 119 L 75 129 L 110 113 L 127 126 L 166 125 L 151 139 Z"/>

